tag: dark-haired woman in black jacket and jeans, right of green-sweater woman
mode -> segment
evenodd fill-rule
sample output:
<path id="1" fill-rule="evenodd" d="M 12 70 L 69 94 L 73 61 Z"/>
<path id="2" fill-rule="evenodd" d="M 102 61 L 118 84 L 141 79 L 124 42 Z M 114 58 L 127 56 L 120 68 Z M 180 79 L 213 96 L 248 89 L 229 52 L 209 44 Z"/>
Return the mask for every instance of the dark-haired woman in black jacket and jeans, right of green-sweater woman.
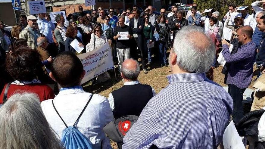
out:
<path id="1" fill-rule="evenodd" d="M 167 67 L 167 48 L 168 48 L 168 32 L 170 29 L 168 24 L 166 23 L 166 17 L 161 14 L 157 18 L 157 26 L 156 31 L 159 34 L 159 60 L 160 60 L 160 67 L 165 65 Z"/>

